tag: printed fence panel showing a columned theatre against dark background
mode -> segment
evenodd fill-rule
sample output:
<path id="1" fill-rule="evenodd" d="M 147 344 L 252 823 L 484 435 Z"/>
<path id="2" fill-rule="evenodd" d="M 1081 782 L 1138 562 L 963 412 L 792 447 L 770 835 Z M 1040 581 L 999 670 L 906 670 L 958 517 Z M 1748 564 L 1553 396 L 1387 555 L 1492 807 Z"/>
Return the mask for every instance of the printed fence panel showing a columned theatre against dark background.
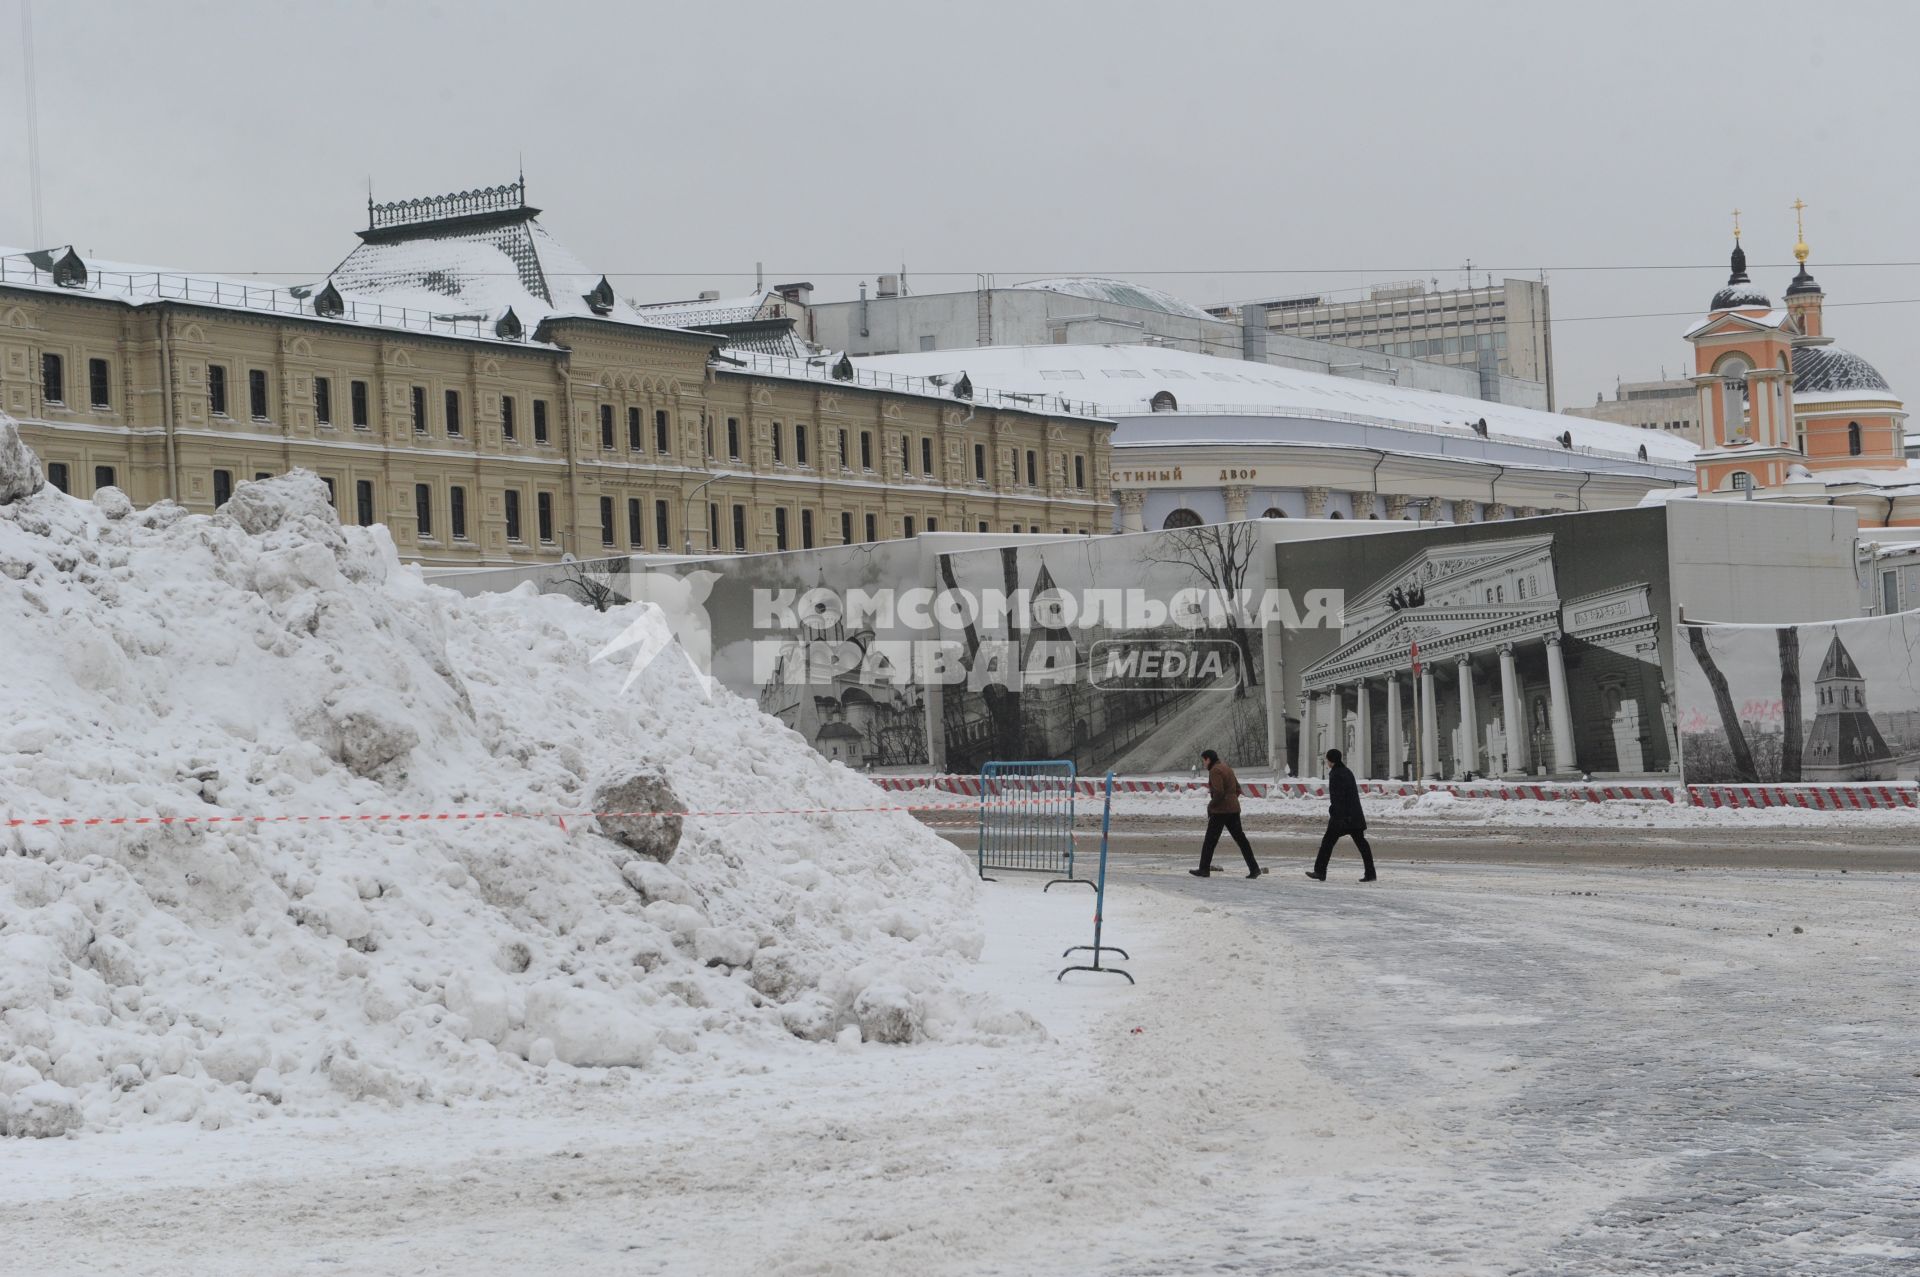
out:
<path id="1" fill-rule="evenodd" d="M 1336 626 L 1283 632 L 1298 774 L 1321 774 L 1327 749 L 1382 780 L 1676 770 L 1663 511 L 1281 543 L 1275 555 L 1283 590 L 1344 601 Z"/>

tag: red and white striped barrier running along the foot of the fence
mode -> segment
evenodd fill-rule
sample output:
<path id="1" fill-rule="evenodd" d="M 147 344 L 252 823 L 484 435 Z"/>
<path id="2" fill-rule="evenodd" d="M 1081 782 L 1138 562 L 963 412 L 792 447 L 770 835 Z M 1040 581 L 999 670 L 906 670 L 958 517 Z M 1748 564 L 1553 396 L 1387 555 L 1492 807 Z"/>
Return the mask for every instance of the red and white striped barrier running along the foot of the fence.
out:
<path id="1" fill-rule="evenodd" d="M 979 795 L 977 776 L 876 776 L 881 789 L 939 789 L 945 793 Z M 1073 782 L 1081 797 L 1100 797 L 1104 778 L 1081 776 Z M 1204 780 L 1114 778 L 1114 793 L 1198 793 Z M 1500 799 L 1530 803 L 1680 803 L 1692 807 L 1801 807 L 1822 812 L 1920 808 L 1920 785 L 1914 783 L 1836 783 L 1836 785 L 1661 785 L 1661 783 L 1597 783 L 1597 782 L 1400 782 L 1363 780 L 1361 793 L 1379 797 L 1419 797 L 1423 793 L 1452 793 L 1461 799 Z M 1319 780 L 1254 780 L 1240 782 L 1240 793 L 1265 797 L 1327 797 Z"/>

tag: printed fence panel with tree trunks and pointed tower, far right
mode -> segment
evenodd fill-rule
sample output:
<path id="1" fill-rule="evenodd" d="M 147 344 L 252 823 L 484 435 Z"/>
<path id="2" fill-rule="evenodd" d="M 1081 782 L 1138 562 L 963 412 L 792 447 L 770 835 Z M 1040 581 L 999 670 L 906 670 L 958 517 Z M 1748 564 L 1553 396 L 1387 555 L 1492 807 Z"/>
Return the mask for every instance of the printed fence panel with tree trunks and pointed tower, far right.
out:
<path id="1" fill-rule="evenodd" d="M 1686 626 L 1680 753 L 1693 785 L 1920 778 L 1920 613 Z"/>

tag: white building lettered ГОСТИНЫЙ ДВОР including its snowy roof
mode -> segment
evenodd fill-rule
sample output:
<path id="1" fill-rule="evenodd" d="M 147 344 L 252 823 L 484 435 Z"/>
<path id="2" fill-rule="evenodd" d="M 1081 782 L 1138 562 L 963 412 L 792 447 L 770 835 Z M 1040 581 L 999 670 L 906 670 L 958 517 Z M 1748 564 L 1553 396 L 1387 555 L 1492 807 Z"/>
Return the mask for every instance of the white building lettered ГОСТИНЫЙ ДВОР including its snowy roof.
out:
<path id="1" fill-rule="evenodd" d="M 1119 532 L 1260 517 L 1484 522 L 1638 505 L 1693 484 L 1695 447 L 1670 434 L 1179 349 L 1016 346 L 854 363 L 1117 421 Z"/>

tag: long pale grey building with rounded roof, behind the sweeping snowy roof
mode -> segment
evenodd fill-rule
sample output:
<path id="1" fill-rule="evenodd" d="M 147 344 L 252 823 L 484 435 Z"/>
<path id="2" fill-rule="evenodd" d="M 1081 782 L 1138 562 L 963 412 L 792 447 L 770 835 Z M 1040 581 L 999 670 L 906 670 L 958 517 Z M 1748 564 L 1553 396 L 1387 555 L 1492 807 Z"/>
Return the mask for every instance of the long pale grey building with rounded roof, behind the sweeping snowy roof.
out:
<path id="1" fill-rule="evenodd" d="M 991 346 L 1156 346 L 1519 407 L 1544 409 L 1548 401 L 1546 386 L 1517 376 L 1482 376 L 1471 361 L 1290 336 L 1248 325 L 1236 311 L 1208 313 L 1160 288 L 1119 278 L 1064 277 L 998 286 L 983 277 L 972 292 L 910 294 L 900 275 L 881 275 L 872 296 L 862 284 L 852 301 L 803 305 L 803 334 L 856 359 Z"/>

